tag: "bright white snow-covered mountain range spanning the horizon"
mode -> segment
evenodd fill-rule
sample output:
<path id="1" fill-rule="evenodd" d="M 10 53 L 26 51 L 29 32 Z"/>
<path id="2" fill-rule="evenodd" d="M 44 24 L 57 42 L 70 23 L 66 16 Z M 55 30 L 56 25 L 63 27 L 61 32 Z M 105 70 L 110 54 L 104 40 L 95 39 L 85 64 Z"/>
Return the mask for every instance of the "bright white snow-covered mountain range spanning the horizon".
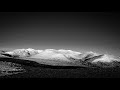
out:
<path id="1" fill-rule="evenodd" d="M 28 49 L 15 49 L 13 51 L 4 52 L 3 55 L 11 55 L 13 57 L 29 57 L 36 59 L 46 59 L 46 60 L 61 60 L 61 61 L 85 61 L 92 60 L 91 63 L 96 62 L 113 62 L 120 61 L 120 58 L 117 58 L 113 55 L 107 54 L 98 54 L 95 52 L 76 52 L 72 50 L 65 49 L 45 49 L 45 50 L 35 50 L 32 48 Z"/>

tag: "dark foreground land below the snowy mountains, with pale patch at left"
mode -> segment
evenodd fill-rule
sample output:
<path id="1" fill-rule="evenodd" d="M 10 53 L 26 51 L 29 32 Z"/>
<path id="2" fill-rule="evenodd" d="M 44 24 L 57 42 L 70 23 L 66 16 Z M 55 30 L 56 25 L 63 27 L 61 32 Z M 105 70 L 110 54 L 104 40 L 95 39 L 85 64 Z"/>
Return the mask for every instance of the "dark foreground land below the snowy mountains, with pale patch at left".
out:
<path id="1" fill-rule="evenodd" d="M 14 65 L 13 65 L 14 64 Z M 0 78 L 119 78 L 120 68 L 51 66 L 33 61 L 0 58 Z M 16 70 L 15 70 L 16 69 Z"/>

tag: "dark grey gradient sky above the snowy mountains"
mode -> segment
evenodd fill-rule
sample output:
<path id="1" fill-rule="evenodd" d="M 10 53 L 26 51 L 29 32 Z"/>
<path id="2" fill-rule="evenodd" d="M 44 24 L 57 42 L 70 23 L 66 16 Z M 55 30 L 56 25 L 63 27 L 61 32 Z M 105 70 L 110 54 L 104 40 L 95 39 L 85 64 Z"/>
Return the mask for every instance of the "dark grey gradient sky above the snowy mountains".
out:
<path id="1" fill-rule="evenodd" d="M 0 12 L 0 48 L 71 49 L 120 55 L 120 13 Z"/>

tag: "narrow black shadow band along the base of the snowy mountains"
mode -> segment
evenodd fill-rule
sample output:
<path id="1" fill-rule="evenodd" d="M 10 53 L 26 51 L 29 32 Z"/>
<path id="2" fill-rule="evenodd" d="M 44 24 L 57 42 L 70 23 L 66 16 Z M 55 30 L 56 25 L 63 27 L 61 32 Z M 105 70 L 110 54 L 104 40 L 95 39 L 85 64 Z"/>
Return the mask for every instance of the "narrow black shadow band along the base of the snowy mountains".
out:
<path id="1" fill-rule="evenodd" d="M 18 63 L 23 66 L 31 66 L 31 67 L 40 67 L 40 68 L 53 68 L 53 69 L 76 69 L 76 68 L 85 68 L 83 66 L 57 66 L 57 65 L 47 65 L 47 64 L 40 64 L 35 61 L 30 61 L 30 60 L 24 60 L 24 59 L 16 59 L 16 58 L 5 58 L 2 57 L 0 58 L 0 61 L 5 61 L 5 62 L 13 62 L 13 63 Z"/>

